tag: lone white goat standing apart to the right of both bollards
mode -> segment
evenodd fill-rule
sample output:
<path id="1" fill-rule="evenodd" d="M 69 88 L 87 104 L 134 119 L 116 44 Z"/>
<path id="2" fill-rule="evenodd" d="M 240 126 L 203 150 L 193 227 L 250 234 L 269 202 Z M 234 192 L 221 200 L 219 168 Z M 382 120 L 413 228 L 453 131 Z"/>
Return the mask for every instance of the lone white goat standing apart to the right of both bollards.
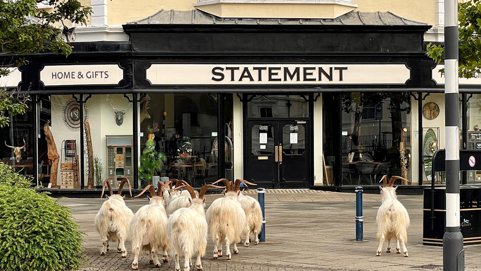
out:
<path id="1" fill-rule="evenodd" d="M 383 187 L 381 189 L 381 206 L 378 209 L 376 222 L 378 224 L 379 247 L 376 256 L 381 256 L 382 243 L 387 240 L 387 251 L 391 252 L 391 239 L 396 239 L 396 253 L 401 253 L 399 242 L 403 246 L 404 257 L 408 257 L 408 250 L 405 242 L 408 241 L 407 230 L 410 224 L 409 214 L 406 208 L 397 200 L 396 189 L 393 187 L 396 179 L 406 180 L 399 176 L 392 176 L 389 185 L 386 185 L 386 175 L 382 177 Z M 407 180 L 406 180 L 407 181 Z"/>

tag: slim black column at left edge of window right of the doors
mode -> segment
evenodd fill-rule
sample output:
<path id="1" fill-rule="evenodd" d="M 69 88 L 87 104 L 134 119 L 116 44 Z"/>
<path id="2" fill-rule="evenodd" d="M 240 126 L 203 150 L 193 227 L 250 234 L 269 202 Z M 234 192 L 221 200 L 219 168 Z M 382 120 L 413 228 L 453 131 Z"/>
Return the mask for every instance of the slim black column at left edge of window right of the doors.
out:
<path id="1" fill-rule="evenodd" d="M 334 133 L 333 137 L 333 149 L 334 154 L 336 154 L 336 169 L 335 169 L 335 185 L 343 185 L 343 101 L 341 97 L 342 93 L 334 94 L 334 101 L 336 106 L 334 107 L 333 118 L 334 127 L 332 131 Z"/>

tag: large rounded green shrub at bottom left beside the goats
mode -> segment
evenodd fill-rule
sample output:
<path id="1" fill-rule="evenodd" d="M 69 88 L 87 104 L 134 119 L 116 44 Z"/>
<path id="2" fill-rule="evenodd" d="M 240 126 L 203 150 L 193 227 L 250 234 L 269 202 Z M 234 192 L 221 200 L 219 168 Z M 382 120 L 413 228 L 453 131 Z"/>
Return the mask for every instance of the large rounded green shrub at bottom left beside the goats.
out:
<path id="1" fill-rule="evenodd" d="M 0 175 L 0 270 L 78 269 L 83 233 L 73 222 L 70 209 L 47 194 L 26 188 L 30 181 L 22 175 L 3 165 L 0 170 L 9 176 Z"/>

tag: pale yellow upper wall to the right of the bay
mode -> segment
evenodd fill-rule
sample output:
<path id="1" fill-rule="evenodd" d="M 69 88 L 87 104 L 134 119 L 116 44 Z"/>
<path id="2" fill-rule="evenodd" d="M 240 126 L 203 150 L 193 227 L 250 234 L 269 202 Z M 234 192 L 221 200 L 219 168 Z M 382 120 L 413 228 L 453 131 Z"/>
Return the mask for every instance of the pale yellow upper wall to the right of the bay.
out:
<path id="1" fill-rule="evenodd" d="M 354 0 L 361 12 L 391 11 L 413 21 L 436 24 L 436 0 Z"/>

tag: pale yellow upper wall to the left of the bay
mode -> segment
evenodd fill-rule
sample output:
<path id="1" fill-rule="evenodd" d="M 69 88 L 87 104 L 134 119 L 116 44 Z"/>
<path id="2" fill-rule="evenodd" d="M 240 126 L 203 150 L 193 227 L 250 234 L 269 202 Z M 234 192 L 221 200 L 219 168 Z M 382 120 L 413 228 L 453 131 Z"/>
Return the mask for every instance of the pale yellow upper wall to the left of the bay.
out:
<path id="1" fill-rule="evenodd" d="M 107 1 L 109 25 L 121 25 L 148 17 L 163 9 L 191 10 L 197 0 L 113 0 Z"/>

